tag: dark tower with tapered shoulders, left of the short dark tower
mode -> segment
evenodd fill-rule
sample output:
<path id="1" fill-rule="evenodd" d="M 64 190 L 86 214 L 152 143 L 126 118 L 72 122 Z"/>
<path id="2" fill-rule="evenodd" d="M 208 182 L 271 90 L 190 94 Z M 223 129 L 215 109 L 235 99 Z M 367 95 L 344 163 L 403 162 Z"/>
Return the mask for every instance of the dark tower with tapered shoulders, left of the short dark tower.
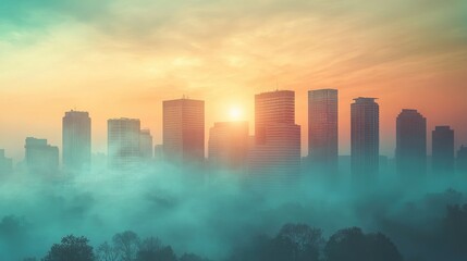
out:
<path id="1" fill-rule="evenodd" d="M 397 116 L 395 158 L 404 177 L 427 172 L 427 119 L 417 110 L 404 109 Z"/>

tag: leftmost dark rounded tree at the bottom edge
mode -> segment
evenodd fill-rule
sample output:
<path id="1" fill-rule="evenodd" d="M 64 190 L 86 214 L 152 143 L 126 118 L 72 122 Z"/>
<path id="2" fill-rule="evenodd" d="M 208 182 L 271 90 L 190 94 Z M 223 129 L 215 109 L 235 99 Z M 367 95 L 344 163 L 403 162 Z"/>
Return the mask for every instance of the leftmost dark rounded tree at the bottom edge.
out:
<path id="1" fill-rule="evenodd" d="M 52 246 L 42 261 L 94 261 L 93 247 L 88 243 L 86 237 L 63 237 L 60 244 Z"/>

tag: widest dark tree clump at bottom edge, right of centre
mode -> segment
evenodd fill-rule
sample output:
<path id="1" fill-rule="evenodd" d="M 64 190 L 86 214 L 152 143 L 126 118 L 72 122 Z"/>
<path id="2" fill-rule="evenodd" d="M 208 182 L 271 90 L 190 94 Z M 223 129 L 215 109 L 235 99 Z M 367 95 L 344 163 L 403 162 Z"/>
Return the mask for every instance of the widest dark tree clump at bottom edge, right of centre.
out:
<path id="1" fill-rule="evenodd" d="M 329 239 L 327 261 L 402 261 L 394 244 L 382 234 L 365 235 L 360 228 L 339 231 Z"/>

